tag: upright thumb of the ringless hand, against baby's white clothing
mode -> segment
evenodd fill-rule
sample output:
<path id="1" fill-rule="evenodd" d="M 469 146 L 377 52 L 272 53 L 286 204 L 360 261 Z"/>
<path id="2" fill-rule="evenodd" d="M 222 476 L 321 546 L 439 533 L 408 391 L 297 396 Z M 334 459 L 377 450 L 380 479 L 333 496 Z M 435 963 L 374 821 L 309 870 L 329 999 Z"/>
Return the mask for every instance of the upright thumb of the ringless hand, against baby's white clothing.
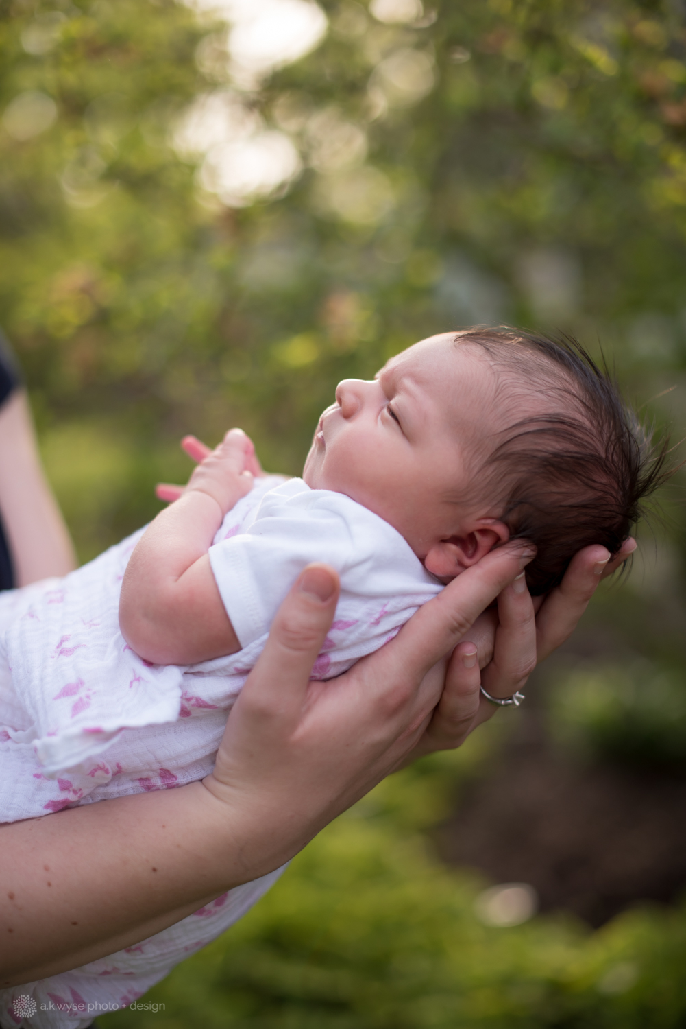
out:
<path id="1" fill-rule="evenodd" d="M 269 636 L 248 676 L 239 703 L 244 716 L 300 717 L 312 667 L 331 628 L 338 576 L 329 565 L 312 564 L 298 576 L 277 611 Z"/>

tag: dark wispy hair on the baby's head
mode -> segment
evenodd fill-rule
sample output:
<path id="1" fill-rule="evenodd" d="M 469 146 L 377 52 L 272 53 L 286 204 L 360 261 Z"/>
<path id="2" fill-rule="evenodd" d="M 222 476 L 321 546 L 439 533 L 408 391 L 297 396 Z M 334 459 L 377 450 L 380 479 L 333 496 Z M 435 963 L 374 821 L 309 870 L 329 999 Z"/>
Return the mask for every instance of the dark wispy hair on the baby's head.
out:
<path id="1" fill-rule="evenodd" d="M 527 581 L 532 594 L 547 593 L 582 547 L 617 553 L 643 502 L 672 474 L 669 442 L 653 442 L 605 360 L 599 365 L 572 336 L 476 327 L 456 333 L 456 344 L 488 356 L 496 407 L 506 415 L 489 437 L 476 488 L 499 498 L 510 538 L 536 544 Z M 514 397 L 501 369 L 515 372 Z M 537 395 L 539 413 L 510 421 L 517 395 L 522 405 Z"/>

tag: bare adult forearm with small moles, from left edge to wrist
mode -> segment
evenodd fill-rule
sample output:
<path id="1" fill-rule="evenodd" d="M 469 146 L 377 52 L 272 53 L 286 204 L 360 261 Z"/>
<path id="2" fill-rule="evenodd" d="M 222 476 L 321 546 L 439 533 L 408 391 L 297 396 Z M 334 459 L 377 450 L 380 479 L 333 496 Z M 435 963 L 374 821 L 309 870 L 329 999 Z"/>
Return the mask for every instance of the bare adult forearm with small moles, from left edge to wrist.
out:
<path id="1" fill-rule="evenodd" d="M 0 826 L 0 987 L 139 943 L 262 874 L 229 820 L 198 782 Z"/>

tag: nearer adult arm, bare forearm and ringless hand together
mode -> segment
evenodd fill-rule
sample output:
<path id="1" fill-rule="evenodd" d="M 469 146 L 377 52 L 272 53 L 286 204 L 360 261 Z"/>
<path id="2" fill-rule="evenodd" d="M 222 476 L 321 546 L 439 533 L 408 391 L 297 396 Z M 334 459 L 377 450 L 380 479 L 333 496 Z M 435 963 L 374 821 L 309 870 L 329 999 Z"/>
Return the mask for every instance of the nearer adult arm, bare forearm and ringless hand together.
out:
<path id="1" fill-rule="evenodd" d="M 515 544 L 488 555 L 328 682 L 310 674 L 337 577 L 306 568 L 203 783 L 0 826 L 0 987 L 133 946 L 292 857 L 417 746 L 443 688 L 436 663 L 521 561 Z"/>

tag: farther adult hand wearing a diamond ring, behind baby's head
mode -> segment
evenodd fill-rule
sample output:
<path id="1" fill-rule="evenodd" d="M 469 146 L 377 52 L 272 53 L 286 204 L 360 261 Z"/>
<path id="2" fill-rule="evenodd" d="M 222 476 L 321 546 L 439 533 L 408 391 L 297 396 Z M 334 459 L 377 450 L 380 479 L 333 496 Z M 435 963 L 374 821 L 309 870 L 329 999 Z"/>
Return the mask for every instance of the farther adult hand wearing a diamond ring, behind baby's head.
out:
<path id="1" fill-rule="evenodd" d="M 599 582 L 636 546 L 635 539 L 625 539 L 612 559 L 604 546 L 586 546 L 545 597 L 532 598 L 523 577 L 506 587 L 498 609 L 484 611 L 453 653 L 440 701 L 406 764 L 434 750 L 459 747 L 495 714 L 497 707 L 481 695 L 481 685 L 499 698 L 520 690 L 536 665 L 572 635 Z"/>

